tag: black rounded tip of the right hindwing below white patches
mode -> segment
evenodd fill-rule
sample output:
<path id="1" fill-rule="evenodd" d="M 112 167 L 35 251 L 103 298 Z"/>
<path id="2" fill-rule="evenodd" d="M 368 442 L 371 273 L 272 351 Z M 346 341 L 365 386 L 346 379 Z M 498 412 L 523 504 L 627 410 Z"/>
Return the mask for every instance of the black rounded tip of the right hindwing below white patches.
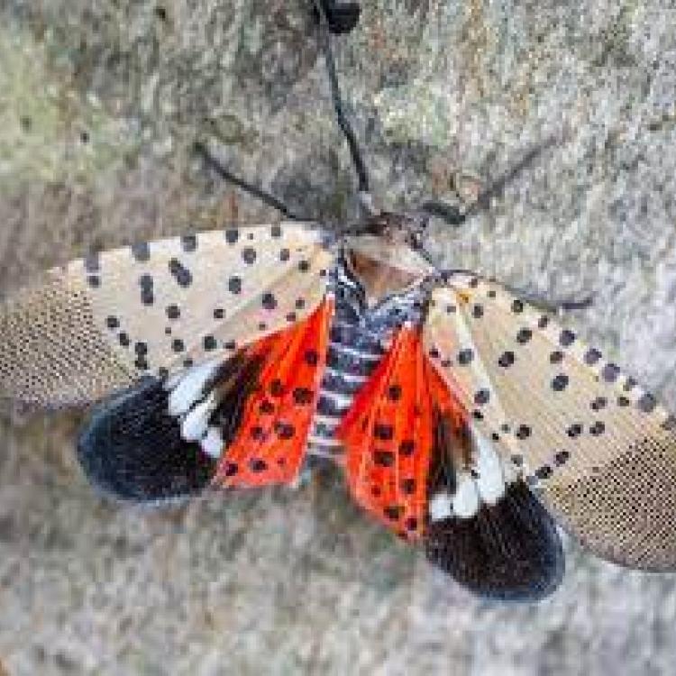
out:
<path id="1" fill-rule="evenodd" d="M 536 601 L 563 576 L 556 526 L 522 481 L 477 516 L 431 523 L 425 549 L 430 562 L 484 598 Z"/>

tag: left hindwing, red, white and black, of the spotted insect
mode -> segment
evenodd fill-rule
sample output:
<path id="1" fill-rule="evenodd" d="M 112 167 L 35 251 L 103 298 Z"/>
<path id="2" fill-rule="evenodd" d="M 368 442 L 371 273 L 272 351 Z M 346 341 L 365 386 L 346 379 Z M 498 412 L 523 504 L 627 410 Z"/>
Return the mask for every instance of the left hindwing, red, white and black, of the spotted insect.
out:
<path id="1" fill-rule="evenodd" d="M 166 381 L 146 377 L 97 406 L 78 442 L 104 493 L 159 503 L 209 485 L 296 480 L 324 373 L 333 298 L 305 320 Z"/>

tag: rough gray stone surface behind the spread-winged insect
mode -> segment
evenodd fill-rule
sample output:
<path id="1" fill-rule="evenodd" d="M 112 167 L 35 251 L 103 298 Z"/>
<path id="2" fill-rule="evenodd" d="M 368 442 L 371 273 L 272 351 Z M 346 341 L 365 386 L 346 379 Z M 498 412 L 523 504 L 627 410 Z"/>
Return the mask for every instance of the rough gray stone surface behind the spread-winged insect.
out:
<path id="1" fill-rule="evenodd" d="M 337 59 L 381 204 L 470 200 L 555 137 L 431 246 L 555 299 L 593 295 L 571 323 L 676 408 L 673 2 L 364 5 Z M 292 206 L 351 217 L 327 93 L 301 0 L 0 0 L 0 288 L 92 245 L 275 217 L 206 173 L 197 138 Z M 331 470 L 161 512 L 106 502 L 74 460 L 79 420 L 0 419 L 12 676 L 676 671 L 674 575 L 567 542 L 553 598 L 480 601 Z"/>

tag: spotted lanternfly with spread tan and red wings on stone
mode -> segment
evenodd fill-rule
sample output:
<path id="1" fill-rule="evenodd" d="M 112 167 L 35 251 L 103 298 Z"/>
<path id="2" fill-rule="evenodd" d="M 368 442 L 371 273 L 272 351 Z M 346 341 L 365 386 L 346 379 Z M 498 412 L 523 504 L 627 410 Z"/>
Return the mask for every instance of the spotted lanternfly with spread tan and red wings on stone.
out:
<path id="1" fill-rule="evenodd" d="M 290 484 L 310 459 L 352 498 L 488 598 L 556 588 L 555 520 L 590 552 L 676 565 L 676 419 L 553 313 L 480 274 L 437 268 L 429 202 L 372 208 L 324 5 L 333 106 L 367 215 L 287 215 L 107 251 L 52 269 L 0 312 L 0 388 L 39 407 L 98 402 L 87 477 L 162 503 L 208 487 Z"/>

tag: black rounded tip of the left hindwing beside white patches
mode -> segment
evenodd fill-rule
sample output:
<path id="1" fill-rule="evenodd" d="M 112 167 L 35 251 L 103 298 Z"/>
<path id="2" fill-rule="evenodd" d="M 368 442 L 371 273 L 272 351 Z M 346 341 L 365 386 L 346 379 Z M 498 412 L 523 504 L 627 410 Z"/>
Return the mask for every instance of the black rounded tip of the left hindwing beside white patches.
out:
<path id="1" fill-rule="evenodd" d="M 181 437 L 168 400 L 160 380 L 145 378 L 94 409 L 79 435 L 78 460 L 97 489 L 148 503 L 206 487 L 216 461 Z"/>

